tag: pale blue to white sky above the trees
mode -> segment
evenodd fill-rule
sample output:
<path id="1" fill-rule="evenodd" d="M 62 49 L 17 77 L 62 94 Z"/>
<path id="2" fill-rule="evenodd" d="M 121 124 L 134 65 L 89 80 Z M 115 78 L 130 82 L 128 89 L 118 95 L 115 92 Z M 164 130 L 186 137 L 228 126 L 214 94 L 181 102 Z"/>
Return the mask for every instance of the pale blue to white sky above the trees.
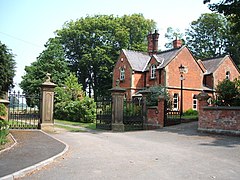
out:
<path id="1" fill-rule="evenodd" d="M 184 32 L 202 13 L 210 13 L 203 0 L 0 0 L 0 41 L 15 54 L 18 83 L 44 50 L 44 44 L 70 20 L 87 15 L 141 13 L 157 23 L 159 46 L 164 49 L 167 27 Z"/>

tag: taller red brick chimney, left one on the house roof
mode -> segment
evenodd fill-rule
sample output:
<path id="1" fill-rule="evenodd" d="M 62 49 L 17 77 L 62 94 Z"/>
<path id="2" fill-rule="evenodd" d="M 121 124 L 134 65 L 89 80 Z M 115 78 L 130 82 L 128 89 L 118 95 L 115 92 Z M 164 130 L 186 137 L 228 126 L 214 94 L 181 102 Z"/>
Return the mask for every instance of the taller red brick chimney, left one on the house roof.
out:
<path id="1" fill-rule="evenodd" d="M 150 32 L 147 36 L 148 39 L 148 53 L 149 55 L 153 55 L 153 54 L 157 54 L 158 51 L 158 37 L 159 34 L 157 32 L 157 30 L 155 30 L 155 32 L 152 34 L 152 32 Z"/>

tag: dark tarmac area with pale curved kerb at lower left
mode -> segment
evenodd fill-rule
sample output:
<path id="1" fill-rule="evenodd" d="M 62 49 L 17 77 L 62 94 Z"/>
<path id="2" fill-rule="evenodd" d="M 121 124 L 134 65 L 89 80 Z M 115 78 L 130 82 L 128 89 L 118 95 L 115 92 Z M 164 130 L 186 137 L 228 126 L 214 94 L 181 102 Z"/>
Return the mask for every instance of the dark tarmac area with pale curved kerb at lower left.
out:
<path id="1" fill-rule="evenodd" d="M 11 179 L 36 169 L 66 148 L 64 143 L 39 130 L 10 132 L 17 143 L 11 149 L 0 153 L 0 179 L 7 175 L 7 178 Z"/>

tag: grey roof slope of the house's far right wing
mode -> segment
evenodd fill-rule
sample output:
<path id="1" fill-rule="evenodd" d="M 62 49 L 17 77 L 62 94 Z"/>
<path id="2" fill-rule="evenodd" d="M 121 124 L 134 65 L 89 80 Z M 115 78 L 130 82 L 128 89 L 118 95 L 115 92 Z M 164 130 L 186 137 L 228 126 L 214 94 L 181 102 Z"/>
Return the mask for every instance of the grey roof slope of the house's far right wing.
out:
<path id="1" fill-rule="evenodd" d="M 214 73 L 224 58 L 225 58 L 225 56 L 203 59 L 202 63 L 204 65 L 204 67 L 207 69 L 205 74 Z"/>

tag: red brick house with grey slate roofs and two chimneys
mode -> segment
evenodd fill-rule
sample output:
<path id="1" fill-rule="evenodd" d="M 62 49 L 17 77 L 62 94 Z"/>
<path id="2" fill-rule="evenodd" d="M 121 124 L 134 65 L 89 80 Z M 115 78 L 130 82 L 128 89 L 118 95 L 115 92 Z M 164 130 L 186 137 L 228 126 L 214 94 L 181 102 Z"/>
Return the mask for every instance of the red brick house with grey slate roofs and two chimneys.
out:
<path id="1" fill-rule="evenodd" d="M 179 67 L 183 73 L 183 111 L 197 110 L 196 95 L 204 91 L 214 95 L 214 87 L 225 78 L 233 80 L 240 71 L 230 56 L 196 60 L 180 40 L 173 42 L 173 49 L 158 52 L 159 34 L 148 35 L 148 52 L 123 49 L 113 70 L 113 87 L 120 80 L 120 87 L 126 88 L 126 98 L 132 98 L 146 87 L 163 85 L 173 102 L 173 109 L 179 110 L 181 81 Z"/>

